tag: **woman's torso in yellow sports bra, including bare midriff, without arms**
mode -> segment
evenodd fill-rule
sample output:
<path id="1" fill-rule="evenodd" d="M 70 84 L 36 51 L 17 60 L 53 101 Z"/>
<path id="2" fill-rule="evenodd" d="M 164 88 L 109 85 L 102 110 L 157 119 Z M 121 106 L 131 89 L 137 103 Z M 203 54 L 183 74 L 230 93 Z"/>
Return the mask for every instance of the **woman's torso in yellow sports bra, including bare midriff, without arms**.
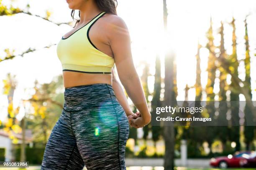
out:
<path id="1" fill-rule="evenodd" d="M 108 14 L 103 12 L 87 21 L 87 23 L 77 24 L 73 30 L 65 34 L 60 40 L 57 53 L 62 66 L 65 65 L 65 68 L 63 67 L 64 87 L 97 83 L 112 85 L 112 74 L 109 72 L 111 72 L 110 67 L 114 62 L 113 52 L 110 45 L 108 45 L 104 32 L 107 17 Z M 68 50 L 71 51 L 70 54 Z M 87 55 L 88 51 L 91 52 Z M 93 55 L 94 53 L 95 55 Z M 66 63 L 77 67 L 66 66 Z M 86 67 L 81 66 L 81 70 L 78 65 L 86 65 Z M 98 69 L 100 67 L 102 69 Z M 74 71 L 65 71 L 67 68 Z M 101 70 L 104 71 L 103 74 L 100 73 Z M 85 73 L 84 71 L 88 72 Z"/>

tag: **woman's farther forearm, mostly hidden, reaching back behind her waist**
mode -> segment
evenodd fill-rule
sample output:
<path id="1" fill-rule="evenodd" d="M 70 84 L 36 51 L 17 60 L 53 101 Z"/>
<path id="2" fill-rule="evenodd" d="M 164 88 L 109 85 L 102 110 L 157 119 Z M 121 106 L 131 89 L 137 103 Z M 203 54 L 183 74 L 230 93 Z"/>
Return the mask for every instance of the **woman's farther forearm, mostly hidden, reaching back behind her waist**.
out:
<path id="1" fill-rule="evenodd" d="M 112 87 L 113 87 L 113 90 L 115 92 L 115 96 L 116 96 L 118 102 L 123 107 L 123 110 L 125 111 L 125 114 L 127 115 L 127 117 L 130 115 L 133 115 L 133 111 L 131 110 L 131 108 L 127 102 L 127 98 L 125 96 L 123 88 L 115 77 L 115 71 L 113 68 L 112 68 L 111 72 L 112 72 L 112 76 L 113 76 L 112 77 Z"/>

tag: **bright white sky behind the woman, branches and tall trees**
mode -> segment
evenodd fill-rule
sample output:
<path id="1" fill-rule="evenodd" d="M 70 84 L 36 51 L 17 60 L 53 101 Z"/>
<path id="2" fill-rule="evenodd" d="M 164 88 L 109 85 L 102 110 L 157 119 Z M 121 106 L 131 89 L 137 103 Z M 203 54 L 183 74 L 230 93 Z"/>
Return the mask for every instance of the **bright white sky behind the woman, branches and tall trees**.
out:
<path id="1" fill-rule="evenodd" d="M 245 56 L 243 20 L 247 18 L 249 43 L 252 56 L 251 72 L 256 72 L 256 60 L 254 50 L 256 48 L 256 3 L 255 0 L 166 0 L 168 7 L 168 38 L 171 44 L 169 49 L 174 50 L 177 57 L 177 100 L 184 100 L 185 85 L 195 84 L 195 71 L 197 53 L 197 40 L 205 45 L 207 40 L 205 33 L 210 26 L 212 16 L 213 30 L 216 35 L 220 27 L 220 21 L 225 23 L 225 49 L 228 54 L 232 52 L 232 28 L 228 22 L 232 16 L 236 19 L 236 35 L 238 43 L 238 59 Z M 141 75 L 143 62 L 150 64 L 150 73 L 154 75 L 154 63 L 156 55 L 160 55 L 162 61 L 162 77 L 164 77 L 164 38 L 163 38 L 163 5 L 162 0 L 119 0 L 118 15 L 128 25 L 131 40 L 133 60 L 138 74 Z M 8 4 L 9 0 L 3 0 Z M 14 0 L 13 4 L 21 9 L 29 3 L 30 12 L 45 16 L 45 11 L 52 12 L 50 20 L 55 23 L 71 21 L 70 12 L 65 0 Z M 78 13 L 78 11 L 76 11 Z M 15 57 L 0 63 L 0 88 L 3 88 L 2 80 L 8 72 L 16 75 L 18 86 L 14 94 L 14 107 L 20 104 L 20 99 L 26 99 L 33 91 L 24 90 L 32 88 L 37 79 L 40 83 L 51 82 L 52 78 L 61 74 L 61 63 L 56 55 L 56 45 L 49 49 L 44 46 L 58 43 L 61 36 L 72 28 L 67 25 L 57 26 L 41 18 L 18 14 L 0 17 L 0 56 L 5 56 L 3 49 L 15 49 L 15 54 L 26 51 L 29 47 L 41 49 L 31 52 L 24 57 Z M 219 45 L 220 36 L 215 36 L 215 45 Z M 202 48 L 201 69 L 202 86 L 207 82 L 207 57 L 208 50 Z M 243 65 L 239 69 L 240 77 L 244 78 Z M 252 76 L 253 100 L 256 99 L 256 76 Z M 149 88 L 154 88 L 154 77 L 149 77 Z M 218 82 L 215 86 L 218 92 Z M 2 92 L 1 92 L 2 94 Z M 189 100 L 194 100 L 195 89 L 189 90 Z M 243 97 L 241 96 L 241 100 Z M 7 114 L 7 97 L 0 95 L 0 119 Z"/>

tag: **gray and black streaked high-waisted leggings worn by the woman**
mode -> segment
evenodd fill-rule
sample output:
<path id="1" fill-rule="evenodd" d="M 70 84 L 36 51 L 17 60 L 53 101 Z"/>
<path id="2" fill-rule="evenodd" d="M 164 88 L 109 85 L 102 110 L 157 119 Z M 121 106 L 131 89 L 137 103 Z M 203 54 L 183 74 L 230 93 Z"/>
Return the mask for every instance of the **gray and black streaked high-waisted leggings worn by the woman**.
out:
<path id="1" fill-rule="evenodd" d="M 41 170 L 126 170 L 129 124 L 113 87 L 65 88 L 64 108 L 44 151 Z"/>

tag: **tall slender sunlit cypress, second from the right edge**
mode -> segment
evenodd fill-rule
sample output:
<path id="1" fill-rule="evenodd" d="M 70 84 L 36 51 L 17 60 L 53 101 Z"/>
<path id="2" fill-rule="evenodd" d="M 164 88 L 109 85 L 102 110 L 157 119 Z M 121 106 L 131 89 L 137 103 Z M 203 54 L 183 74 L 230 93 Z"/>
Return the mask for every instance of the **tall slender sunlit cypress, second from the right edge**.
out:
<path id="1" fill-rule="evenodd" d="M 233 17 L 233 20 L 231 21 L 230 25 L 233 28 L 233 34 L 232 34 L 232 47 L 233 52 L 229 57 L 230 66 L 229 70 L 232 73 L 233 76 L 238 77 L 238 60 L 237 60 L 237 53 L 236 53 L 236 25 L 235 25 L 235 18 Z M 240 126 L 239 126 L 239 85 L 235 82 L 234 77 L 231 77 L 231 84 L 230 84 L 230 101 L 232 102 L 230 105 L 231 108 L 231 122 L 232 122 L 232 128 L 230 133 L 230 139 L 231 141 L 236 142 L 236 151 L 240 150 Z"/>

